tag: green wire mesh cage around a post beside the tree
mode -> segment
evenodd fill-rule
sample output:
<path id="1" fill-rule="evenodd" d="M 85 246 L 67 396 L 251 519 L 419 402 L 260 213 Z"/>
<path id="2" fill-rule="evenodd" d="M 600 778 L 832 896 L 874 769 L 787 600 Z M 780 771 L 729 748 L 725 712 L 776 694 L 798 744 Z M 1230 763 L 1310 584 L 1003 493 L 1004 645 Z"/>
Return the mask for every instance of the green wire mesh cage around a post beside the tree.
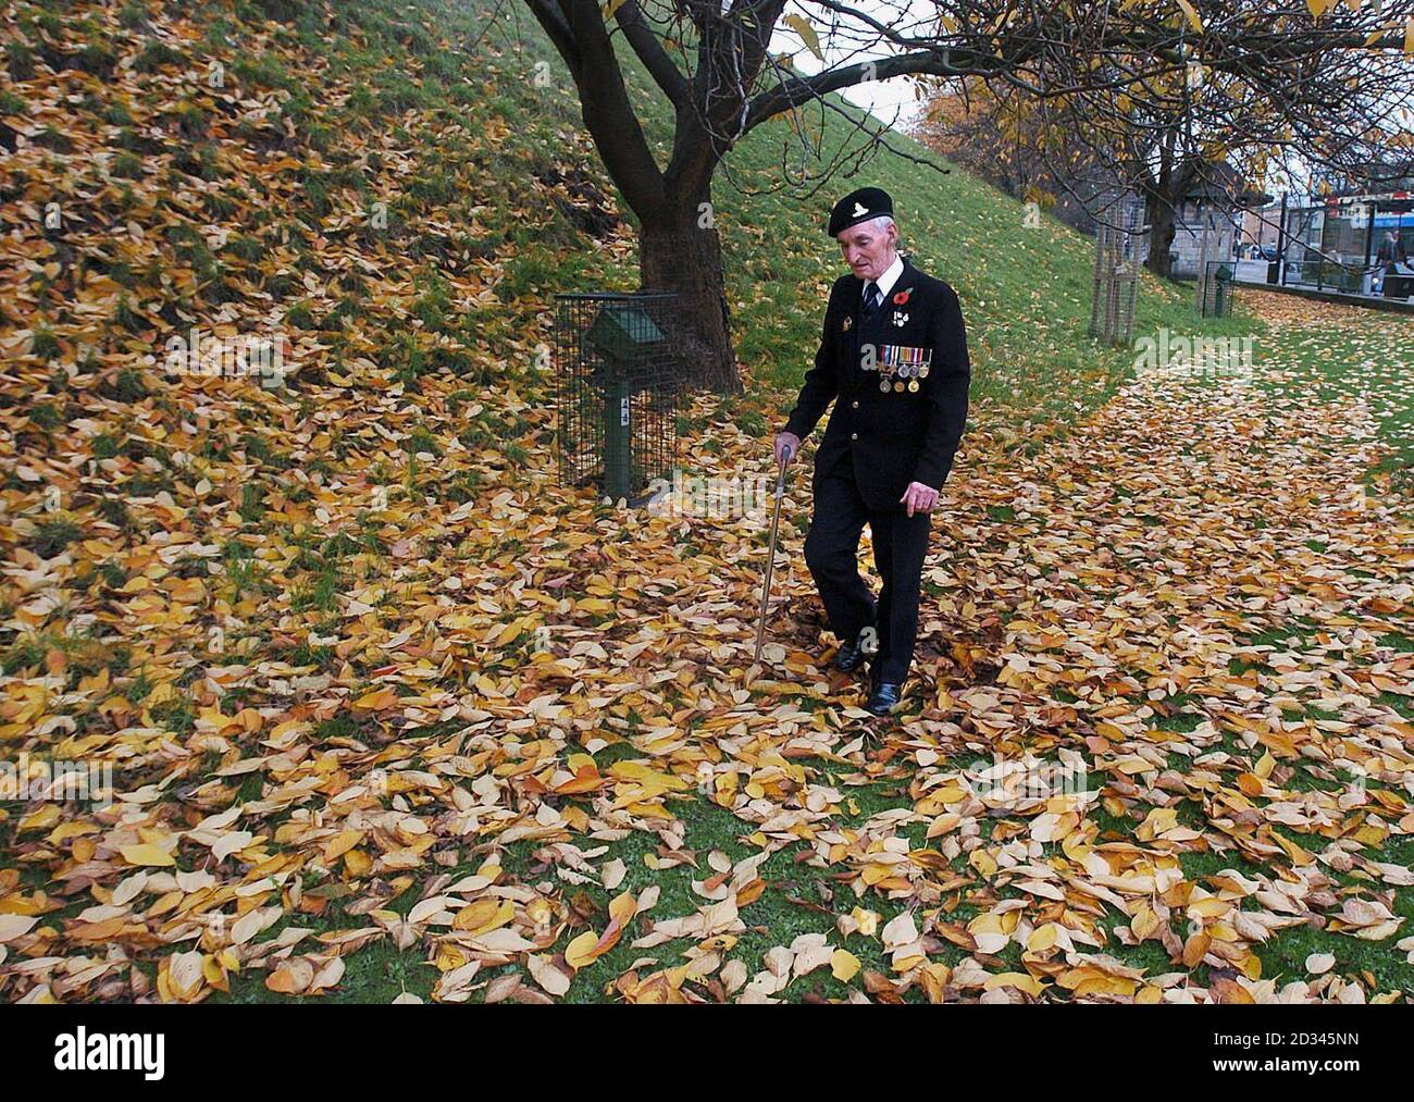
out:
<path id="1" fill-rule="evenodd" d="M 639 505 L 672 478 L 683 393 L 677 296 L 557 294 L 554 315 L 560 477 Z"/>

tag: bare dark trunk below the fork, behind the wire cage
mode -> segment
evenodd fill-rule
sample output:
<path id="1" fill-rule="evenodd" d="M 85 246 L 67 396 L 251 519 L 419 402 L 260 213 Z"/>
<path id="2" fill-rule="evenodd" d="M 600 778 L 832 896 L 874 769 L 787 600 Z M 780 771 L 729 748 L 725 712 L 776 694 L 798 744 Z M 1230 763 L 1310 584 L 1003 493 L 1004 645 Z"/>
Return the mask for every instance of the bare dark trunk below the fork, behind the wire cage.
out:
<path id="1" fill-rule="evenodd" d="M 690 386 L 740 393 L 731 315 L 723 284 L 721 239 L 699 229 L 699 214 L 682 222 L 643 224 L 638 263 L 643 290 L 676 291 L 683 378 Z"/>

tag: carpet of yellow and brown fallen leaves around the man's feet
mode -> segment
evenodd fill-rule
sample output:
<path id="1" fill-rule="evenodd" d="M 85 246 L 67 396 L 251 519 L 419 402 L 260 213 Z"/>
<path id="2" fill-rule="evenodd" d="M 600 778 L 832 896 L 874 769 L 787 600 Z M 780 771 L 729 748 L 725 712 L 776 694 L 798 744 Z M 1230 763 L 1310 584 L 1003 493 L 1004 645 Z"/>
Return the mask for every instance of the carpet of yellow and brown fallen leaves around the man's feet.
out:
<path id="1" fill-rule="evenodd" d="M 1281 373 L 1280 349 L 1264 362 Z M 7 379 L 34 376 L 21 359 Z M 0 741 L 110 764 L 116 791 L 7 805 L 6 997 L 198 1002 L 249 973 L 311 996 L 386 944 L 436 969 L 433 999 L 533 1002 L 619 942 L 638 952 L 604 987 L 629 1002 L 790 999 L 817 969 L 885 1002 L 1397 996 L 1336 955 L 1271 976 L 1256 952 L 1297 927 L 1414 945 L 1414 873 L 1379 856 L 1414 832 L 1414 726 L 1391 703 L 1411 693 L 1391 638 L 1410 635 L 1414 530 L 1362 489 L 1381 446 L 1359 402 L 1147 373 L 1031 457 L 981 416 L 935 528 L 911 707 L 880 724 L 827 671 L 799 526 L 754 666 L 759 515 L 605 506 L 557 488 L 547 453 L 457 505 L 430 487 L 489 458 L 465 448 L 373 509 L 380 444 L 414 422 L 455 439 L 436 379 L 417 406 L 379 382 L 331 385 L 308 417 L 219 379 L 181 383 L 189 414 L 167 430 L 129 406 L 175 488 L 129 499 L 122 530 L 76 508 L 82 538 L 51 557 L 23 540 L 44 487 L 83 501 L 92 436 L 18 467 L 4 625 L 96 631 L 0 682 Z M 90 402 L 95 427 L 116 412 Z M 334 433 L 354 460 L 269 501 L 256 535 L 238 504 L 257 464 L 198 454 L 240 417 L 283 426 L 296 471 Z M 701 472 L 765 471 L 735 426 L 706 437 Z M 307 607 L 301 545 L 370 523 L 387 553 L 349 560 L 332 617 Z M 273 584 L 238 598 L 228 539 Z M 157 719 L 180 700 L 187 730 Z M 1055 794 L 1058 768 L 1087 781 Z M 847 822 L 881 784 L 892 805 Z M 694 845 L 708 805 L 749 856 Z M 522 874 L 502 860 L 518 843 Z M 827 918 L 744 959 L 752 908 L 782 890 L 758 873 L 788 849 L 830 886 Z M 1210 871 L 1185 873 L 1195 853 Z M 653 876 L 683 864 L 699 903 L 665 914 Z M 617 894 L 587 905 L 584 883 Z"/>

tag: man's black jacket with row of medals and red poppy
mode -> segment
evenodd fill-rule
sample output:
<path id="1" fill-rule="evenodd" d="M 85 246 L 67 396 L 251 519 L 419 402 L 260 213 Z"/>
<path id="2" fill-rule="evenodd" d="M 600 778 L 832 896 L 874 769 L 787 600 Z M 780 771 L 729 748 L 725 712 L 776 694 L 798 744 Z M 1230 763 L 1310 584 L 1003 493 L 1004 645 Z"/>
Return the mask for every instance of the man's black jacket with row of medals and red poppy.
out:
<path id="1" fill-rule="evenodd" d="M 971 365 L 957 294 L 906 259 L 875 323 L 863 323 L 864 280 L 830 289 L 814 366 L 786 431 L 802 440 L 834 412 L 816 451 L 816 478 L 853 460 L 871 509 L 902 509 L 909 482 L 942 489 L 967 422 Z"/>

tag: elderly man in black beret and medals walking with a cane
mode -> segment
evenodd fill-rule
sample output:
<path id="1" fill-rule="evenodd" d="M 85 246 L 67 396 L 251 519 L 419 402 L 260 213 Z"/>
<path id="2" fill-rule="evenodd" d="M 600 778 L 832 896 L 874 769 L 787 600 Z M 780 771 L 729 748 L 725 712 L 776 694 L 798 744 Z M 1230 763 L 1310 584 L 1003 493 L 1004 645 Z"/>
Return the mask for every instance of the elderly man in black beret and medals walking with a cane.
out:
<path id="1" fill-rule="evenodd" d="M 957 294 L 898 255 L 887 192 L 846 195 L 829 233 L 850 274 L 830 289 L 814 366 L 775 454 L 789 463 L 834 400 L 814 457 L 805 557 L 840 642 L 836 668 L 853 672 L 868 661 L 865 707 L 887 716 L 913 659 L 929 514 L 962 440 L 971 368 Z M 865 522 L 882 579 L 878 601 L 858 573 Z"/>

